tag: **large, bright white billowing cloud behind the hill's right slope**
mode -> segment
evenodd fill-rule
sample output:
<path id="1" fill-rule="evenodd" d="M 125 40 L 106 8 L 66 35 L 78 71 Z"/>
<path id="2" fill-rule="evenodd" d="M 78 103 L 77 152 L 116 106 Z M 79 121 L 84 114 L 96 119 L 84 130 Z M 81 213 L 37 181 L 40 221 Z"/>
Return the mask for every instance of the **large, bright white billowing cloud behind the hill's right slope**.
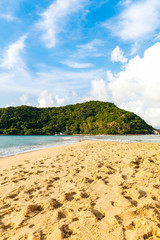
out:
<path id="1" fill-rule="evenodd" d="M 136 56 L 125 70 L 107 72 L 113 102 L 134 111 L 153 126 L 160 126 L 160 43 L 148 48 L 144 57 Z M 155 110 L 156 114 L 153 113 Z"/>

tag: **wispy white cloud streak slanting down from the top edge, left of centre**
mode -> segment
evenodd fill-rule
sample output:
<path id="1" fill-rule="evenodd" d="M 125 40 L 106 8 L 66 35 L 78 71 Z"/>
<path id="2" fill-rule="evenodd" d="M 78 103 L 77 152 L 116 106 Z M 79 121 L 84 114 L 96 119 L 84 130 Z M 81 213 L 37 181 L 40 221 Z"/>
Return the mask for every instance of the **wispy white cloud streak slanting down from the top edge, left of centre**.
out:
<path id="1" fill-rule="evenodd" d="M 42 30 L 42 39 L 46 47 L 57 43 L 57 35 L 63 31 L 69 16 L 85 6 L 86 0 L 56 0 L 41 15 L 37 27 Z"/>

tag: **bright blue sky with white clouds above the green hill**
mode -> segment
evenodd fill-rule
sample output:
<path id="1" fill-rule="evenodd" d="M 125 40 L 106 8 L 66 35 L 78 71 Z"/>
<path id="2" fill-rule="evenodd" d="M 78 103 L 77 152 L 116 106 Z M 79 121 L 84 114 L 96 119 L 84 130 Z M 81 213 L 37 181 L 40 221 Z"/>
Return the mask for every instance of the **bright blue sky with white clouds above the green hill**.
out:
<path id="1" fill-rule="evenodd" d="M 160 127 L 160 1 L 0 0 L 0 107 L 90 100 Z"/>

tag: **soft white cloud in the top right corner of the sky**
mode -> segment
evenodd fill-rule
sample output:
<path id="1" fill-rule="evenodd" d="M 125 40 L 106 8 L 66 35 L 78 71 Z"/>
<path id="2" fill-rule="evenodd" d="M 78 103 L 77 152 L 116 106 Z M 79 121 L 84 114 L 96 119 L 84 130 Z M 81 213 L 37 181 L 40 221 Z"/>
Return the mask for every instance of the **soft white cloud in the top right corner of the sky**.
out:
<path id="1" fill-rule="evenodd" d="M 159 0 L 136 1 L 127 5 L 119 16 L 106 22 L 104 26 L 122 40 L 142 39 L 159 28 L 159 11 Z"/>

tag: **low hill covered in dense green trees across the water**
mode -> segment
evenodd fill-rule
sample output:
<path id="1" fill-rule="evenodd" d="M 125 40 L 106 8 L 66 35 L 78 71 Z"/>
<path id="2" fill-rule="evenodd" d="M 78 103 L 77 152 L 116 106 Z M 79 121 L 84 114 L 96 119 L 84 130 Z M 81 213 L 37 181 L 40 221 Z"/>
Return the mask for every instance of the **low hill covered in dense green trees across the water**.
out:
<path id="1" fill-rule="evenodd" d="M 90 101 L 65 107 L 0 109 L 0 134 L 148 134 L 153 128 L 113 103 Z"/>

